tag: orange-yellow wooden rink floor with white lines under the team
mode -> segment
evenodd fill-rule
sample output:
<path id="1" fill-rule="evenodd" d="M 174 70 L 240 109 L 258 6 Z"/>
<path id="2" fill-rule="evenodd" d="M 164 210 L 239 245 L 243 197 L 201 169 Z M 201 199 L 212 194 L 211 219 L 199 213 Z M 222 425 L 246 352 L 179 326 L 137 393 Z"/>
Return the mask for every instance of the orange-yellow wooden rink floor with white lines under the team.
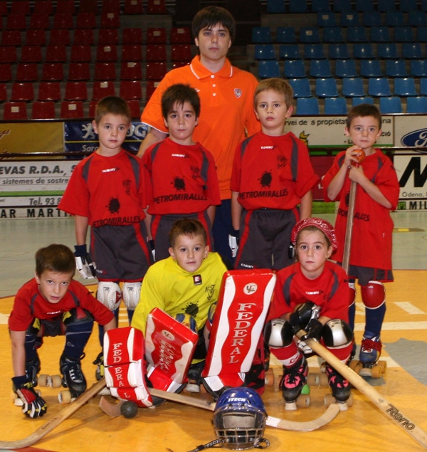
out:
<path id="1" fill-rule="evenodd" d="M 425 233 L 421 235 L 422 241 L 425 241 Z M 72 241 L 73 237 L 70 240 Z M 43 245 L 44 243 L 41 243 L 41 246 Z M 417 246 L 416 243 L 414 246 Z M 19 248 L 18 243 L 16 247 Z M 423 247 L 425 249 L 425 245 Z M 29 258 L 32 258 L 31 253 Z M 425 251 L 422 260 L 425 264 Z M 391 402 L 401 415 L 427 431 L 427 270 L 425 266 L 423 268 L 396 270 L 395 282 L 386 285 L 387 312 L 381 337 L 384 344 L 381 358 L 386 359 L 388 368 L 384 378 L 369 379 L 369 383 Z M 15 270 L 19 271 L 19 267 Z M 31 274 L 28 275 L 27 279 L 29 278 Z M 0 351 L 3 369 L 0 377 L 0 441 L 14 441 L 28 436 L 63 409 L 58 403 L 58 389 L 42 389 L 43 397 L 48 403 L 48 413 L 41 419 L 26 419 L 19 407 L 14 406 L 11 401 L 11 350 L 6 319 L 12 302 L 13 296 L 0 298 L 0 337 L 3 339 Z M 359 298 L 357 306 L 355 334 L 359 344 L 364 322 Z M 120 326 L 125 326 L 124 313 L 120 319 Z M 62 349 L 62 337 L 45 339 L 39 351 L 43 373 L 58 373 Z M 83 360 L 83 370 L 89 385 L 95 382 L 95 366 L 92 362 L 99 351 L 97 335 L 93 334 Z M 317 358 L 310 358 L 312 372 L 319 369 L 318 365 Z M 329 391 L 327 388 L 311 389 L 312 401 L 308 408 L 285 411 L 282 396 L 277 389 L 281 369 L 274 362 L 273 370 L 276 377 L 275 386 L 268 386 L 263 395 L 269 416 L 290 421 L 310 421 L 325 411 L 323 398 Z M 357 389 L 353 389 L 353 396 L 354 405 L 348 411 L 340 411 L 330 424 L 316 431 L 283 431 L 267 427 L 265 438 L 270 441 L 268 451 L 423 450 L 410 434 L 389 419 L 389 415 L 381 412 L 367 396 Z M 122 416 L 110 418 L 100 411 L 99 399 L 97 396 L 81 407 L 73 416 L 34 444 L 33 448 L 21 450 L 189 452 L 215 438 L 210 411 L 168 401 L 155 409 L 139 409 L 133 419 L 125 419 Z M 0 448 L 0 451 L 2 450 Z"/>

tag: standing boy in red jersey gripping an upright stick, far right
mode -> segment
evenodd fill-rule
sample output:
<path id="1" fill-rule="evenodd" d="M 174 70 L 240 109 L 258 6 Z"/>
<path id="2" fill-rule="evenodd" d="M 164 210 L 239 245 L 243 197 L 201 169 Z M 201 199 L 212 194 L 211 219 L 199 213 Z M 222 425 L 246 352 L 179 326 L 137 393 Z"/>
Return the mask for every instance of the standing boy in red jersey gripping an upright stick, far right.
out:
<path id="1" fill-rule="evenodd" d="M 349 320 L 354 327 L 355 279 L 361 286 L 366 323 L 359 359 L 364 368 L 372 367 L 381 354 L 381 327 L 386 313 L 383 283 L 393 280 L 391 246 L 393 221 L 390 211 L 397 208 L 399 181 L 393 163 L 374 144 L 381 136 L 381 113 L 370 104 L 353 107 L 347 115 L 345 133 L 353 142 L 339 152 L 334 164 L 322 179 L 325 201 L 339 201 L 335 229 L 338 238 L 336 260 L 342 262 L 347 226 L 348 199 L 351 182 L 357 184 L 354 207 L 352 246 L 349 256 L 349 278 L 352 303 Z M 366 158 L 358 166 L 359 149 Z M 369 374 L 362 369 L 361 375 Z"/>

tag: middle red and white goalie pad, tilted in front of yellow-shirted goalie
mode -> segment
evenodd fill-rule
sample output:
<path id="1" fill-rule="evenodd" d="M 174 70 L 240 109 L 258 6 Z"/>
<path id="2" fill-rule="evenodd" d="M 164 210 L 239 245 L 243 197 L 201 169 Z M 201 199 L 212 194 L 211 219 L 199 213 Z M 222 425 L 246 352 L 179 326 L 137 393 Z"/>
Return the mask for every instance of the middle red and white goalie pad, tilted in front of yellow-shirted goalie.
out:
<path id="1" fill-rule="evenodd" d="M 199 335 L 159 308 L 147 317 L 145 356 L 153 387 L 176 392 L 187 381 Z"/>

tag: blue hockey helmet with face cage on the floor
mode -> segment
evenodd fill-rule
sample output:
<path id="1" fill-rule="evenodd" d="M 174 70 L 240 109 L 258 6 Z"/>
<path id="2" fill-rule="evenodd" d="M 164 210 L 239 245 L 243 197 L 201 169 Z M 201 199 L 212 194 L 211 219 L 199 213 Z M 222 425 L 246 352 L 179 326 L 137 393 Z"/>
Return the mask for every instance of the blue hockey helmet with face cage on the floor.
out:
<path id="1" fill-rule="evenodd" d="M 238 387 L 226 389 L 219 396 L 212 424 L 223 448 L 243 451 L 270 445 L 263 438 L 266 420 L 265 406 L 257 392 Z"/>

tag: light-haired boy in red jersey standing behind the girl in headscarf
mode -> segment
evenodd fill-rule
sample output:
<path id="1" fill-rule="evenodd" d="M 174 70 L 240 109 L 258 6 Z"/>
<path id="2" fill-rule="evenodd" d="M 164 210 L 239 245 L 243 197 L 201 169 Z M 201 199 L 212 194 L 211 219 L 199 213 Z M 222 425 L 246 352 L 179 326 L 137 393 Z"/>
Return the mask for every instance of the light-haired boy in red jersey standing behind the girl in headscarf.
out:
<path id="1" fill-rule="evenodd" d="M 255 89 L 262 130 L 237 147 L 231 175 L 231 216 L 240 237 L 236 269 L 290 265 L 283 251 L 292 228 L 311 215 L 311 190 L 319 178 L 305 144 L 284 132 L 292 102 L 292 87 L 282 78 L 261 80 Z"/>

